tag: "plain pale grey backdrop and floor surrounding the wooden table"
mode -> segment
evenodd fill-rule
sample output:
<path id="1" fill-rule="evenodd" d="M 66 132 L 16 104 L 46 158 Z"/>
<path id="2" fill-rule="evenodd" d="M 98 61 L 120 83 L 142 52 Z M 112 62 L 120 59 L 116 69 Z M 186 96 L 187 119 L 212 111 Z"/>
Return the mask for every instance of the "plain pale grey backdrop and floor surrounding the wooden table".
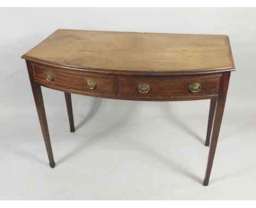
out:
<path id="1" fill-rule="evenodd" d="M 1 8 L 0 199 L 256 199 L 255 8 Z M 138 102 L 43 88 L 48 164 L 25 60 L 58 28 L 226 34 L 236 71 L 208 187 L 209 100 Z"/>

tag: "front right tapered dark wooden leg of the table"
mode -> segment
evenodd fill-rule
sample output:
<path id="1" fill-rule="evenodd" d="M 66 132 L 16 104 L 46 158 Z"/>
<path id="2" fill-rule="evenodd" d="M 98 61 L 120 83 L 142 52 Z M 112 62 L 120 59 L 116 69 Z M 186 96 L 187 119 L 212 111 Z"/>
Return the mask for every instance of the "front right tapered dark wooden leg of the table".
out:
<path id="1" fill-rule="evenodd" d="M 224 107 L 226 102 L 226 93 L 228 91 L 228 85 L 229 85 L 229 77 L 230 77 L 230 72 L 224 72 L 220 80 L 219 96 L 218 96 L 217 108 L 216 108 L 214 124 L 213 124 L 211 146 L 210 146 L 210 151 L 208 156 L 205 179 L 203 180 L 203 186 L 207 186 L 210 179 L 213 159 L 214 159 L 218 137 L 219 137 L 220 125 L 222 124 L 222 117 L 223 117 L 223 112 L 224 112 Z"/>

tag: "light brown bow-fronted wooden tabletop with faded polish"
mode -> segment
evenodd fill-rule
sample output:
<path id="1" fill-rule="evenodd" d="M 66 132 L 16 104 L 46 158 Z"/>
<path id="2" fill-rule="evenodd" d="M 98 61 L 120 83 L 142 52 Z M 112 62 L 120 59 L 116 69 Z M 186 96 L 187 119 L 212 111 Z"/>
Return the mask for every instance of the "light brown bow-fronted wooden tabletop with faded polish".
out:
<path id="1" fill-rule="evenodd" d="M 232 70 L 226 35 L 58 29 L 24 58 L 106 71 Z"/>

